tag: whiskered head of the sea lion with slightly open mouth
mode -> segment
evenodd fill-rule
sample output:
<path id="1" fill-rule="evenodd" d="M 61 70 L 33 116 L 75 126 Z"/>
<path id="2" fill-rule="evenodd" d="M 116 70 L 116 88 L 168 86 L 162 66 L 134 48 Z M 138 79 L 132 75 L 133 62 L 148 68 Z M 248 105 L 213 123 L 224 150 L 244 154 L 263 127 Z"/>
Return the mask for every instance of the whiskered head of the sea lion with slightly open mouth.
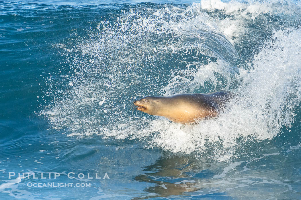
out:
<path id="1" fill-rule="evenodd" d="M 137 110 L 145 112 L 149 115 L 159 115 L 162 107 L 162 97 L 146 96 L 134 101 Z"/>

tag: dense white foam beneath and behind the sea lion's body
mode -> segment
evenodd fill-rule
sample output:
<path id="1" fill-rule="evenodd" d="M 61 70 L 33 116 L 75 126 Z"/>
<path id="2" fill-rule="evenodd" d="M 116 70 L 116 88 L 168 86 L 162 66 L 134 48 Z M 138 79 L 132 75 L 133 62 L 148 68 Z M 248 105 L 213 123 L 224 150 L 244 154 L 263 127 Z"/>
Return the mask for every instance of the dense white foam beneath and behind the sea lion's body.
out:
<path id="1" fill-rule="evenodd" d="M 186 153 L 204 150 L 208 140 L 234 148 L 239 137 L 272 139 L 283 125 L 290 126 L 293 108 L 301 100 L 301 29 L 274 32 L 272 40 L 255 56 L 251 70 L 241 69 L 243 81 L 236 91 L 240 98 L 231 102 L 219 118 L 182 128 L 176 124 L 153 125 L 160 134 L 151 143 Z M 220 151 L 216 149 L 217 154 Z"/>

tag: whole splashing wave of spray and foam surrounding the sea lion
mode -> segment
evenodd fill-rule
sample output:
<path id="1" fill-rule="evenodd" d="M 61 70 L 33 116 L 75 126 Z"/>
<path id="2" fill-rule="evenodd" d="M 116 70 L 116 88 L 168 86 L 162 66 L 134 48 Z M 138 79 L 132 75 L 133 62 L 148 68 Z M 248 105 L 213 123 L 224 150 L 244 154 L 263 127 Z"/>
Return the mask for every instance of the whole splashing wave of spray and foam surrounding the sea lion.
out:
<path id="1" fill-rule="evenodd" d="M 138 138 L 146 147 L 227 159 L 246 140 L 273 139 L 291 126 L 301 100 L 299 8 L 291 1 L 113 6 L 85 37 L 54 44 L 61 66 L 48 76 L 43 96 L 52 102 L 40 114 L 68 136 Z M 218 90 L 239 98 L 196 126 L 132 113 L 132 101 L 146 95 Z"/>

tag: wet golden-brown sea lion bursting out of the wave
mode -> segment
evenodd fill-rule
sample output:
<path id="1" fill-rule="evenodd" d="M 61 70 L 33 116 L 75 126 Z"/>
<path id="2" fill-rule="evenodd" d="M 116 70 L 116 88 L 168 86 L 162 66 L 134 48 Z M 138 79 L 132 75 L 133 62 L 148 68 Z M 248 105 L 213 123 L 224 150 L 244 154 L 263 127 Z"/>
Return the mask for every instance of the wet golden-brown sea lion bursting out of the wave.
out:
<path id="1" fill-rule="evenodd" d="M 170 97 L 146 96 L 134 101 L 137 110 L 163 116 L 181 124 L 194 124 L 200 119 L 217 116 L 234 94 L 219 91 L 208 94 L 178 94 Z"/>

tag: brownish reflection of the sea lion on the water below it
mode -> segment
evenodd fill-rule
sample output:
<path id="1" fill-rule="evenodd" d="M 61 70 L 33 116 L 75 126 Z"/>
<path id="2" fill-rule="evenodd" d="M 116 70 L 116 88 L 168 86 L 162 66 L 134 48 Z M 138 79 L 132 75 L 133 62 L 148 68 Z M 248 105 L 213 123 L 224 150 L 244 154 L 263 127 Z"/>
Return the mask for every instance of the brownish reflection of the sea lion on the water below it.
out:
<path id="1" fill-rule="evenodd" d="M 154 164 L 144 167 L 145 173 L 135 177 L 136 181 L 154 183 L 146 187 L 147 196 L 134 199 L 147 199 L 152 197 L 168 197 L 185 195 L 185 192 L 200 190 L 197 178 L 213 177 L 208 169 L 208 160 L 197 160 L 188 155 L 163 155 Z"/>

